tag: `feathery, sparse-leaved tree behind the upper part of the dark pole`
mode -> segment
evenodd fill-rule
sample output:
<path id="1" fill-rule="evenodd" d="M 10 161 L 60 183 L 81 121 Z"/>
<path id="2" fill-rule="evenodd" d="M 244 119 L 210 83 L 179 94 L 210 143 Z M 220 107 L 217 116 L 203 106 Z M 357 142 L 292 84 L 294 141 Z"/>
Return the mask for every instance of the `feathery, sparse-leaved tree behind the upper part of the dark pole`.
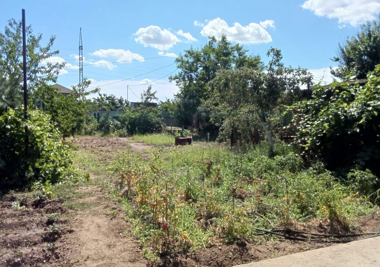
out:
<path id="1" fill-rule="evenodd" d="M 50 63 L 46 59 L 59 54 L 50 51 L 55 36 L 46 46 L 41 46 L 42 34 L 33 35 L 32 26 L 26 27 L 27 35 L 27 79 L 28 91 L 56 82 L 59 70 L 65 63 Z M 0 109 L 16 107 L 22 102 L 22 23 L 10 19 L 5 32 L 0 33 Z M 0 110 L 0 111 L 1 111 Z"/>

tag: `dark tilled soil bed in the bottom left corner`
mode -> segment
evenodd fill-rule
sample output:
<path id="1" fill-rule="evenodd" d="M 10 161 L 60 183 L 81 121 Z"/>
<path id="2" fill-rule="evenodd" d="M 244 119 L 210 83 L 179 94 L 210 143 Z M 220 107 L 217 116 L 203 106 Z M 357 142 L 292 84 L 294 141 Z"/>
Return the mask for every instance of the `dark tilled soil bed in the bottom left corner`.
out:
<path id="1" fill-rule="evenodd" d="M 15 210 L 12 202 L 22 202 L 25 210 Z M 0 199 L 0 266 L 52 266 L 68 259 L 66 239 L 72 233 L 62 199 L 40 201 L 32 194 L 9 194 Z M 58 220 L 49 214 L 59 213 Z M 57 226 L 52 231 L 53 223 Z"/>

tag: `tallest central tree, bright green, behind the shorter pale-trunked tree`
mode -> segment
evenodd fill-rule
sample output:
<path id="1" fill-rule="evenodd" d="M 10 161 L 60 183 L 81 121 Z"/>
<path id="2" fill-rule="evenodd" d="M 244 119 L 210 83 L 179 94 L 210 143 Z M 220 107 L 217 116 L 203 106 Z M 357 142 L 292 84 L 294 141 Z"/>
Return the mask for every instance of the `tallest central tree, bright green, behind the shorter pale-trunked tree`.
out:
<path id="1" fill-rule="evenodd" d="M 207 84 L 218 71 L 261 65 L 260 56 L 248 56 L 243 46 L 232 45 L 225 35 L 220 40 L 209 37 L 209 44 L 200 49 L 191 47 L 185 50 L 183 55 L 176 58 L 176 63 L 180 71 L 169 77 L 169 81 L 176 82 L 180 88 L 175 97 L 180 102 L 182 114 L 195 114 L 198 111 L 202 101 L 209 97 Z"/>

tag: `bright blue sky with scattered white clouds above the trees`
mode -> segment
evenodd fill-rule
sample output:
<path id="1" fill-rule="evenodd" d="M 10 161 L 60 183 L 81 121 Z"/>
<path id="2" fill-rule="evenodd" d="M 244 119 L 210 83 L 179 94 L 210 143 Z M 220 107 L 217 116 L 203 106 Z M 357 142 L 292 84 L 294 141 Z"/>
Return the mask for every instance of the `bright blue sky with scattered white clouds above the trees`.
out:
<path id="1" fill-rule="evenodd" d="M 336 55 L 337 44 L 358 32 L 361 22 L 377 18 L 380 0 L 0 0 L 1 32 L 8 19 L 21 19 L 22 8 L 27 24 L 35 33 L 43 33 L 43 44 L 49 36 L 57 36 L 54 49 L 60 54 L 51 61 L 67 63 L 59 84 L 78 83 L 82 27 L 84 76 L 92 80 L 92 87 L 126 98 L 127 85 L 134 85 L 128 97 L 137 101 L 151 81 L 160 100 L 172 98 L 177 88 L 166 75 L 175 73 L 174 56 L 206 44 L 210 34 L 226 33 L 233 43 L 239 41 L 264 61 L 270 47 L 279 48 L 286 65 L 312 70 L 320 80 L 326 68 L 336 66 L 329 58 Z M 135 78 L 120 82 L 131 77 Z M 323 81 L 331 80 L 325 71 Z M 114 84 L 106 85 L 110 83 Z"/>

